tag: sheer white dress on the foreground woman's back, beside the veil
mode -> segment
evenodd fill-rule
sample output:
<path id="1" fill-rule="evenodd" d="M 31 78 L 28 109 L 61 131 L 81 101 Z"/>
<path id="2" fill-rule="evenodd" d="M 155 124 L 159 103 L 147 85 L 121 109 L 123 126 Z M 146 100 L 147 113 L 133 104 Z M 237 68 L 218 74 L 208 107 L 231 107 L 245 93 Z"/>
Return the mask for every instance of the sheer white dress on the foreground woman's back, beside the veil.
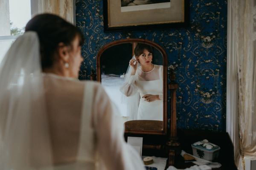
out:
<path id="1" fill-rule="evenodd" d="M 50 124 L 50 127 L 53 127 L 51 130 L 55 136 L 63 135 L 64 129 L 67 134 L 72 133 L 73 130 L 77 131 L 73 124 L 77 117 L 80 120 L 80 130 L 77 131 L 78 150 L 74 155 L 76 158 L 73 159 L 68 152 L 68 148 L 76 148 L 76 142 L 70 146 L 72 140 L 61 136 L 63 141 L 55 143 L 53 156 L 54 151 L 61 152 L 58 155 L 61 155 L 62 160 L 71 159 L 73 163 L 63 164 L 61 160 L 56 161 L 55 164 L 62 163 L 62 165 L 55 165 L 54 170 L 144 169 L 138 153 L 124 141 L 121 118 L 102 85 L 44 74 L 44 86 L 47 110 L 51 115 L 50 120 L 52 119 L 54 123 L 54 125 Z M 65 124 L 62 123 L 63 121 Z M 72 150 L 70 152 L 72 153 Z"/>

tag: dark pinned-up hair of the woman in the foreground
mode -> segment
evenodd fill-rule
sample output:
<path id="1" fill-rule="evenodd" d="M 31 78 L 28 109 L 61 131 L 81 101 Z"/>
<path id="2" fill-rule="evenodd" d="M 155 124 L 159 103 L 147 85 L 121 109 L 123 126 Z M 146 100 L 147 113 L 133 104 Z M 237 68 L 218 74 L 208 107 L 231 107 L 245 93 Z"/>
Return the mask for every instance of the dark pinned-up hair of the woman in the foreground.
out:
<path id="1" fill-rule="evenodd" d="M 43 69 L 51 67 L 55 62 L 54 54 L 60 42 L 71 46 L 76 36 L 79 36 L 80 45 L 84 41 L 79 28 L 54 14 L 36 15 L 26 24 L 25 31 L 35 31 L 38 34 Z"/>

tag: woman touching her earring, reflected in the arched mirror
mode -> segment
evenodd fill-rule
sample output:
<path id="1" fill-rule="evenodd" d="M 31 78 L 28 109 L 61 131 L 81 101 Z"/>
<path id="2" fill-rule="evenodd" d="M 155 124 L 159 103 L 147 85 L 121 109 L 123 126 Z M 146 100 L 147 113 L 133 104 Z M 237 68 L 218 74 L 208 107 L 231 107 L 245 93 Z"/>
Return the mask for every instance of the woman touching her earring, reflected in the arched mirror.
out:
<path id="1" fill-rule="evenodd" d="M 129 119 L 163 121 L 163 66 L 152 63 L 150 45 L 138 43 L 134 54 L 120 87 L 122 94 L 129 98 Z"/>

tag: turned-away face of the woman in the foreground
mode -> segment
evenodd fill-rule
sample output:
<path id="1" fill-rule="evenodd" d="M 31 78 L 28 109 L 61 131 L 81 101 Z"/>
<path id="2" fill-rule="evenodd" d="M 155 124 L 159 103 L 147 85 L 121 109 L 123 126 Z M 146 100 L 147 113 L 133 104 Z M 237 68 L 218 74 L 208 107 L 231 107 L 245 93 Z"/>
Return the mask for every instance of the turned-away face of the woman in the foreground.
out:
<path id="1" fill-rule="evenodd" d="M 78 78 L 81 62 L 84 60 L 81 56 L 81 46 L 79 45 L 79 37 L 76 36 L 72 43 L 70 54 L 70 77 Z"/>

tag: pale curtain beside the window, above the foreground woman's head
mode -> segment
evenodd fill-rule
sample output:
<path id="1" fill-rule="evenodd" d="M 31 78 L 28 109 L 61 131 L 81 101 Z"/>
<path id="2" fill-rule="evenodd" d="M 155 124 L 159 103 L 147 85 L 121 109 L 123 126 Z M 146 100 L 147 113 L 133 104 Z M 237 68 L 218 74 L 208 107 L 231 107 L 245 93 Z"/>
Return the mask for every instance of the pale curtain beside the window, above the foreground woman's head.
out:
<path id="1" fill-rule="evenodd" d="M 74 24 L 73 0 L 38 0 L 39 13 L 57 14 Z"/>

